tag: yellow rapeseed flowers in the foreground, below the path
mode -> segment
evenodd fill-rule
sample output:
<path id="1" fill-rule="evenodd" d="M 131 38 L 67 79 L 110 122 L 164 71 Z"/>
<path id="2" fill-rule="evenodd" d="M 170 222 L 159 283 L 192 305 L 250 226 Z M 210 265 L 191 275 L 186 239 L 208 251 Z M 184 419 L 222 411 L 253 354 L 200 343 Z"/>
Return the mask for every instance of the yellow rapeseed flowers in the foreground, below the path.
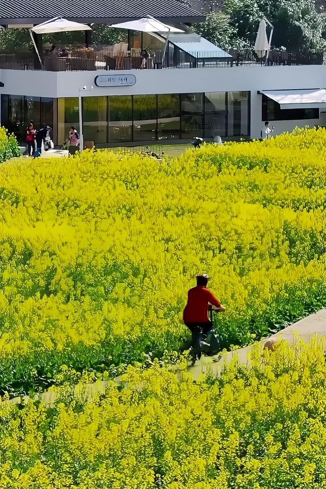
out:
<path id="1" fill-rule="evenodd" d="M 254 351 L 252 368 L 180 381 L 129 367 L 85 403 L 0 403 L 2 489 L 325 489 L 320 345 Z"/>

